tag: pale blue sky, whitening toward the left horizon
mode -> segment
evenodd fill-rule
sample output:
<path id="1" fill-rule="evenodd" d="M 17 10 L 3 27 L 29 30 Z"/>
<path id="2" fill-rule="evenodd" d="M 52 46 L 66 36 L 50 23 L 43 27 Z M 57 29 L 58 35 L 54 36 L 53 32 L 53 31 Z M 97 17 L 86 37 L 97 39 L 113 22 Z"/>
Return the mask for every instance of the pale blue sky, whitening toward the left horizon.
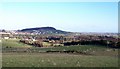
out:
<path id="1" fill-rule="evenodd" d="M 0 28 L 54 27 L 71 32 L 118 32 L 117 2 L 3 2 Z"/>

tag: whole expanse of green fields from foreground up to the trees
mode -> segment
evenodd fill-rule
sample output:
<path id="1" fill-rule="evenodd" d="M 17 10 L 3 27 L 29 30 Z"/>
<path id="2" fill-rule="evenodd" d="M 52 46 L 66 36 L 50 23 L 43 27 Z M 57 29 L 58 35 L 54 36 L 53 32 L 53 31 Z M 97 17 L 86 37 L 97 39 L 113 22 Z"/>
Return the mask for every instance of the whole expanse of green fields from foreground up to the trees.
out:
<path id="1" fill-rule="evenodd" d="M 19 40 L 2 40 L 3 67 L 117 67 L 118 50 L 104 46 L 65 46 L 38 48 Z M 14 50 L 14 51 L 13 51 Z M 89 53 L 46 53 L 74 50 Z M 23 51 L 23 52 L 22 52 Z"/>

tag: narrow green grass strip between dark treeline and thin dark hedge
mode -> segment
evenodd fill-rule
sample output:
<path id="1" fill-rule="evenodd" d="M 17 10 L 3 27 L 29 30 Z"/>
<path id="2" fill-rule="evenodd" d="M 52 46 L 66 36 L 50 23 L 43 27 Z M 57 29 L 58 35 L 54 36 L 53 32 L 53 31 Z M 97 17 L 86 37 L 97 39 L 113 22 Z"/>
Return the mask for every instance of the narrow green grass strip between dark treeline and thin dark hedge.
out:
<path id="1" fill-rule="evenodd" d="M 66 51 L 66 50 L 75 50 L 75 51 L 93 51 L 93 50 L 105 50 L 106 48 L 100 46 L 89 46 L 89 45 L 79 45 L 79 46 L 61 46 L 61 47 L 51 47 L 51 48 L 31 48 L 36 50 L 54 50 L 54 51 Z"/>

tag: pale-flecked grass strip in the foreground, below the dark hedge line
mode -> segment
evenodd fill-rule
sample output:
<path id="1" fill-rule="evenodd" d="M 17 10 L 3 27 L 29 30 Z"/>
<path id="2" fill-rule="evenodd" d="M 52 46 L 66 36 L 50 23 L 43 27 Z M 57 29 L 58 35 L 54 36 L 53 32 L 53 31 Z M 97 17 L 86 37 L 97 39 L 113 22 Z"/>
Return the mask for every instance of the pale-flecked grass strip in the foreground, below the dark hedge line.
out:
<path id="1" fill-rule="evenodd" d="M 3 67 L 117 67 L 117 57 L 47 53 L 5 53 Z"/>

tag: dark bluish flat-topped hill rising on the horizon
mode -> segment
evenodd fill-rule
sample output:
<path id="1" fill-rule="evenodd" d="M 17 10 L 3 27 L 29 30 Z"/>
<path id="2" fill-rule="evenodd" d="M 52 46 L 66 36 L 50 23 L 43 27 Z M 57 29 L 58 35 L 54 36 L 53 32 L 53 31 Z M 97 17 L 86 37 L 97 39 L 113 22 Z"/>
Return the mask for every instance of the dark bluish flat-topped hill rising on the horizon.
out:
<path id="1" fill-rule="evenodd" d="M 19 32 L 37 33 L 37 34 L 68 34 L 70 32 L 57 30 L 54 27 L 37 27 L 37 28 L 26 28 L 19 30 Z"/>

